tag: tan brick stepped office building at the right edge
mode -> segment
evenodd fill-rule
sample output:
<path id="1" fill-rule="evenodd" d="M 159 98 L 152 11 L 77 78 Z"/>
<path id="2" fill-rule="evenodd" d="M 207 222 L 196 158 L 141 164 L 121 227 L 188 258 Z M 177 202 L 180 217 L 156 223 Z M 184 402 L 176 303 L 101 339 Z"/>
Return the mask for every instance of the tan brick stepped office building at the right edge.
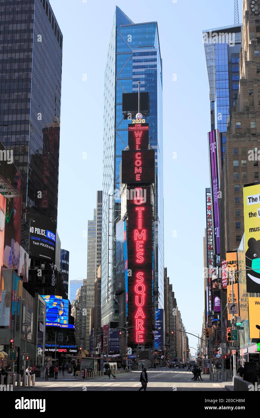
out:
<path id="1" fill-rule="evenodd" d="M 260 16 L 243 2 L 238 99 L 227 130 L 220 199 L 221 255 L 236 250 L 244 232 L 243 186 L 259 181 Z"/>

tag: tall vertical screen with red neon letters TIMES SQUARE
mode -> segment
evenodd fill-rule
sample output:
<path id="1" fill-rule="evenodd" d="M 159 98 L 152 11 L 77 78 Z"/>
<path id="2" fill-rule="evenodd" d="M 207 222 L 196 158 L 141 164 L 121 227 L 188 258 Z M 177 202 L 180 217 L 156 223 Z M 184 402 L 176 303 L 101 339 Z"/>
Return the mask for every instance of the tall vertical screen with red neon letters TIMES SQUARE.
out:
<path id="1" fill-rule="evenodd" d="M 129 204 L 128 327 L 129 343 L 150 343 L 152 333 L 152 206 Z"/>

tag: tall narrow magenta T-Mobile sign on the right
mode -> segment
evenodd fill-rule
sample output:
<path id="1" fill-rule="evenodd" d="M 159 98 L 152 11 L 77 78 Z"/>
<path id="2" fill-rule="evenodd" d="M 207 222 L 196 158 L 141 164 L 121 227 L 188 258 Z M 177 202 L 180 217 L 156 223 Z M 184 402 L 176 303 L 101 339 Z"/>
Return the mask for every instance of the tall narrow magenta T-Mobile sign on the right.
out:
<path id="1" fill-rule="evenodd" d="M 219 190 L 220 190 L 220 141 L 218 130 L 212 130 L 209 134 L 210 144 L 210 176 L 212 194 L 212 212 L 214 225 L 215 251 L 220 254 L 220 214 L 219 214 Z"/>

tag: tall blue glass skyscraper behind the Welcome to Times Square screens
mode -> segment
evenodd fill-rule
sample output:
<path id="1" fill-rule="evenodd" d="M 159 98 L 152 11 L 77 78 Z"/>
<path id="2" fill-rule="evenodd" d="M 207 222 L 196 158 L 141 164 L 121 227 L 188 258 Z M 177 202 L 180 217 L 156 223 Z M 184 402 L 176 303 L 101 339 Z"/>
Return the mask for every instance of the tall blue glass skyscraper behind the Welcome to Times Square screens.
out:
<path id="1" fill-rule="evenodd" d="M 122 115 L 122 94 L 148 92 L 150 144 L 156 158 L 156 230 L 154 248 L 154 295 L 164 308 L 164 206 L 162 134 L 162 59 L 157 22 L 134 24 L 118 7 L 114 15 L 105 71 L 103 134 L 102 216 L 102 324 L 118 320 L 114 300 L 115 225 L 120 217 L 120 172 L 122 150 L 128 145 L 128 125 Z M 135 117 L 135 115 L 133 115 Z"/>

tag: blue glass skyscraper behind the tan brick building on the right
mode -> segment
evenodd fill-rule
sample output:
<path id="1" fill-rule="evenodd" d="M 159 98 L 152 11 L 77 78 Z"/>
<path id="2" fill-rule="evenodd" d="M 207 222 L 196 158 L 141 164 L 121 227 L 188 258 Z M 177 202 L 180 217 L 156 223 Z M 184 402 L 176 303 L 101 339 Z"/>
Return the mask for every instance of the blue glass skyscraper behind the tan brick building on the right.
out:
<path id="1" fill-rule="evenodd" d="M 241 26 L 207 29 L 202 33 L 210 84 L 210 130 L 219 129 L 220 131 L 223 160 L 227 125 L 232 108 L 237 104 Z"/>

